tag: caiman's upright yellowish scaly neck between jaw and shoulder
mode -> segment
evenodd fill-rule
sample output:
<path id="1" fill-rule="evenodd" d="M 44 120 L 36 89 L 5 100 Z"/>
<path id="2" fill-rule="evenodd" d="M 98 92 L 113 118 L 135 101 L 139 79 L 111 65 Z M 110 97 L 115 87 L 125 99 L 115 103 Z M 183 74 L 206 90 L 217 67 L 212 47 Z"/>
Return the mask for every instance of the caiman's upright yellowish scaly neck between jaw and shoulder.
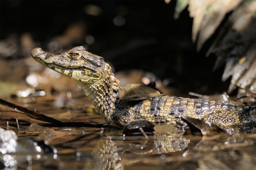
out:
<path id="1" fill-rule="evenodd" d="M 114 77 L 111 67 L 106 64 L 104 67 L 105 75 L 99 81 L 92 84 L 76 82 L 84 91 L 86 96 L 92 101 L 92 104 L 100 112 L 108 124 L 111 122 L 111 114 L 115 110 L 118 100 L 117 92 L 121 88 L 120 81 Z"/>

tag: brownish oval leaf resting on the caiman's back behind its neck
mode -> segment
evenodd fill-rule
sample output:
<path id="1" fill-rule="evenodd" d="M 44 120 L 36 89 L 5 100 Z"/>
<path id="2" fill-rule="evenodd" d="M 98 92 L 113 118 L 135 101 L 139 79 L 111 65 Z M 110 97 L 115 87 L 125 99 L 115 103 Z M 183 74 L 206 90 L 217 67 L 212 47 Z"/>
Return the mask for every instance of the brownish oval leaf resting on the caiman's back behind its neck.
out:
<path id="1" fill-rule="evenodd" d="M 157 96 L 164 96 L 164 94 L 160 94 L 156 89 L 141 84 L 127 84 L 118 91 L 118 97 L 126 101 L 142 100 Z"/>

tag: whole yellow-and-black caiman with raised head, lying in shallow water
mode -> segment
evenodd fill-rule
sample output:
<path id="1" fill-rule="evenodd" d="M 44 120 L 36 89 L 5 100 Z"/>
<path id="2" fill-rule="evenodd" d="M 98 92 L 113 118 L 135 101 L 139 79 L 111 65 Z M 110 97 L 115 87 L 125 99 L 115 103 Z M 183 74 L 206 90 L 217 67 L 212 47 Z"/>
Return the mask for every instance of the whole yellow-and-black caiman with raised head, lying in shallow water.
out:
<path id="1" fill-rule="evenodd" d="M 118 128 L 142 120 L 155 125 L 175 124 L 187 127 L 182 116 L 209 122 L 219 128 L 255 123 L 254 105 L 235 105 L 202 99 L 153 95 L 140 100 L 122 100 L 125 90 L 114 77 L 111 67 L 100 56 L 75 47 L 67 52 L 51 54 L 41 48 L 31 51 L 33 58 L 44 66 L 73 80 L 100 112 L 108 125 Z M 143 95 L 142 95 L 143 96 Z"/>

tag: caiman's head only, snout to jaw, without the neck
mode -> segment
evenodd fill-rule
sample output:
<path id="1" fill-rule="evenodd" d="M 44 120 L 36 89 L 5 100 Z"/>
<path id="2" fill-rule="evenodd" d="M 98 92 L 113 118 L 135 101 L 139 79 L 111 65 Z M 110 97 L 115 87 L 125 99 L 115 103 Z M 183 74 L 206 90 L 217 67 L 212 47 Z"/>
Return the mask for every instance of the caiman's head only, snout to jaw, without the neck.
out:
<path id="1" fill-rule="evenodd" d="M 35 48 L 31 55 L 44 66 L 84 84 L 99 81 L 106 76 L 106 70 L 110 68 L 102 57 L 86 51 L 82 46 L 58 54 Z"/>

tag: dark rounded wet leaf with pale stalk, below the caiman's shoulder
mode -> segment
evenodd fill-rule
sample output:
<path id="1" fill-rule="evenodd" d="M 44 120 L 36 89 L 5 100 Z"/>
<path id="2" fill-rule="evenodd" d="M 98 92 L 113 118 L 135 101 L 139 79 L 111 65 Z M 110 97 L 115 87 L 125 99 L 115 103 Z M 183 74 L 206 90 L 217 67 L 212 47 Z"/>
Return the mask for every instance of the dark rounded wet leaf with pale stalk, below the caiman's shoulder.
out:
<path id="1" fill-rule="evenodd" d="M 153 135 L 155 125 L 147 120 L 134 120 L 124 126 L 124 136 L 144 135 L 148 139 L 148 135 Z"/>

